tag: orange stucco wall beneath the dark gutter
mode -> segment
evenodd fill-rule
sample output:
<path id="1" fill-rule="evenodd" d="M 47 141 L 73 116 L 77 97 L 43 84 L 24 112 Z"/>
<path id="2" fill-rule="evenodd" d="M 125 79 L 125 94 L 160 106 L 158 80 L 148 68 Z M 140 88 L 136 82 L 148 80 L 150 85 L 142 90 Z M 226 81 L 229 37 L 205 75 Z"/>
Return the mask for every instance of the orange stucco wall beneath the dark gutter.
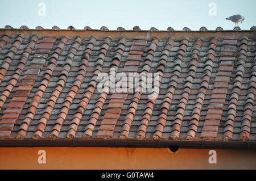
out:
<path id="1" fill-rule="evenodd" d="M 46 163 L 38 151 L 46 151 Z M 255 150 L 156 148 L 0 148 L 0 169 L 256 169 Z"/>

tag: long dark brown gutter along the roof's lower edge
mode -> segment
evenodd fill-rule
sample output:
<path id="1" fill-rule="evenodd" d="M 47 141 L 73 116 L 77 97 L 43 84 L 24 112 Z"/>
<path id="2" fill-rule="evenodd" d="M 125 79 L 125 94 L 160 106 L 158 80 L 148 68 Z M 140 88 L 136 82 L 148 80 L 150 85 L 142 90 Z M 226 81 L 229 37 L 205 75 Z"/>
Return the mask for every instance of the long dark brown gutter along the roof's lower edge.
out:
<path id="1" fill-rule="evenodd" d="M 256 141 L 212 140 L 0 140 L 3 147 L 110 147 L 110 148 L 179 148 L 256 150 Z"/>

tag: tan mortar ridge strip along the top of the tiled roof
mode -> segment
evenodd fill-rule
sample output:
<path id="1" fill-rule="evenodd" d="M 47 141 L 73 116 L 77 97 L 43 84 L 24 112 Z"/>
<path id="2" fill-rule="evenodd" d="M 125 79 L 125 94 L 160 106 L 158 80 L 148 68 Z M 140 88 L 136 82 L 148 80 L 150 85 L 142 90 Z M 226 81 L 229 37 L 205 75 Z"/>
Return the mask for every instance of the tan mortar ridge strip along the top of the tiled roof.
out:
<path id="1" fill-rule="evenodd" d="M 6 34 L 8 36 L 15 35 L 16 33 L 23 33 L 23 35 L 30 35 L 31 33 L 36 33 L 38 36 L 67 36 L 67 37 L 89 37 L 96 36 L 98 38 L 111 36 L 112 38 L 127 37 L 134 38 L 136 36 L 147 37 L 159 37 L 160 39 L 166 38 L 168 36 L 173 37 L 183 37 L 187 36 L 189 38 L 193 37 L 241 37 L 247 36 L 249 38 L 256 38 L 256 31 L 252 30 L 242 30 L 242 31 L 101 31 L 101 30 L 52 30 L 52 29 L 43 29 L 43 30 L 20 30 L 20 29 L 3 29 L 0 28 L 1 34 Z"/>

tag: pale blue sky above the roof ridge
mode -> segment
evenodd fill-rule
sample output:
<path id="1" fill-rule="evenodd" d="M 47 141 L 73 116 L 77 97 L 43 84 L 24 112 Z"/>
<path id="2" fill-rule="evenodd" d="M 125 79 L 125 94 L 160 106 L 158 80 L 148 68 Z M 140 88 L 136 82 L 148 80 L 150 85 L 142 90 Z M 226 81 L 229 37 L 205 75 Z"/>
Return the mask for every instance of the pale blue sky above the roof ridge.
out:
<path id="1" fill-rule="evenodd" d="M 46 16 L 38 15 L 39 2 L 45 3 Z M 216 3 L 216 16 L 208 13 L 210 2 Z M 67 28 L 72 25 L 76 29 L 106 26 L 116 30 L 121 26 L 132 30 L 139 26 L 142 30 L 151 27 L 166 30 L 171 26 L 175 30 L 183 27 L 199 30 L 205 26 L 208 30 L 215 30 L 220 26 L 224 30 L 233 30 L 234 23 L 225 18 L 241 14 L 245 16 L 241 29 L 250 30 L 256 26 L 255 7 L 255 0 L 5 0 L 0 2 L 0 28 L 8 24 L 14 28 L 22 25 L 28 28 L 52 28 L 54 25 Z"/>

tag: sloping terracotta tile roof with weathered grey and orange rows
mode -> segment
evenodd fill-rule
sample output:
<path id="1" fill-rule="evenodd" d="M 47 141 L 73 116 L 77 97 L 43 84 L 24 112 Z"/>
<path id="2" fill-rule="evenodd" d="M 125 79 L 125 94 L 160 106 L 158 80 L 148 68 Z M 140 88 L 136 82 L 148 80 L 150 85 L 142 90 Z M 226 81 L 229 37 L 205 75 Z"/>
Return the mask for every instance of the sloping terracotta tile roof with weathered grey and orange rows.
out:
<path id="1" fill-rule="evenodd" d="M 0 35 L 2 139 L 256 141 L 253 30 L 192 37 L 23 31 Z M 154 98 L 99 92 L 98 74 L 110 69 L 158 73 L 160 89 Z"/>

